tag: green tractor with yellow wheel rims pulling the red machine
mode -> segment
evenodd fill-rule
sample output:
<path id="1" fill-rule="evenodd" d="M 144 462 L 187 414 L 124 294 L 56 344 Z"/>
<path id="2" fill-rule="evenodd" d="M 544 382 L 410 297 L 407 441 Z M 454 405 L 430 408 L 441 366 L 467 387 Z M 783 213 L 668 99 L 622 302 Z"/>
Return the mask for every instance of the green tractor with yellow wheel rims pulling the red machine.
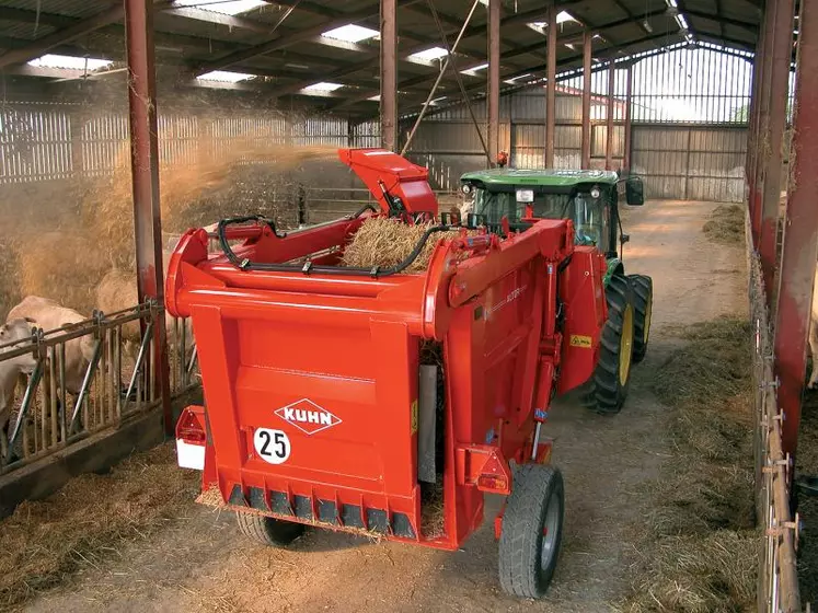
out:
<path id="1" fill-rule="evenodd" d="M 581 391 L 583 404 L 598 413 L 619 413 L 627 395 L 631 365 L 647 351 L 653 280 L 625 275 L 619 216 L 619 175 L 610 171 L 491 169 L 460 178 L 463 212 L 489 227 L 506 217 L 511 225 L 527 218 L 571 219 L 576 244 L 592 245 L 608 259 L 604 276 L 608 321 L 600 338 L 599 361 Z M 631 206 L 644 204 L 642 182 L 625 182 Z M 471 210 L 469 210 L 471 209 Z"/>

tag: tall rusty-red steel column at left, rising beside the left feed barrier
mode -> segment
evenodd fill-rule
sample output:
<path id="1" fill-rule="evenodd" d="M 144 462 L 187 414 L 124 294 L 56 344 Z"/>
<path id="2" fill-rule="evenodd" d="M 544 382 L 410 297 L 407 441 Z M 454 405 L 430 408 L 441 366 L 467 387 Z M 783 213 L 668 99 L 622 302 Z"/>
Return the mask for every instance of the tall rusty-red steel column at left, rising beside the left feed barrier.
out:
<path id="1" fill-rule="evenodd" d="M 130 108 L 130 167 L 134 181 L 134 234 L 136 236 L 137 291 L 164 304 L 162 221 L 159 206 L 159 138 L 157 136 L 157 74 L 153 61 L 153 2 L 125 0 L 125 42 L 128 60 Z M 142 324 L 142 332 L 145 325 Z M 164 410 L 165 433 L 173 435 L 170 369 L 164 311 L 154 324 L 159 348 L 152 363 Z"/>

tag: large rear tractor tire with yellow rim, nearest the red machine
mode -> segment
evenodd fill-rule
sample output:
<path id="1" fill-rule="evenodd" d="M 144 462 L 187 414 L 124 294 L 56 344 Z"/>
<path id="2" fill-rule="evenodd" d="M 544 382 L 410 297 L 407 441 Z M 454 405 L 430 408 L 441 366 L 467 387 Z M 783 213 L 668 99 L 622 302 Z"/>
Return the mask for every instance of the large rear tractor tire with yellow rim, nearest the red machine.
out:
<path id="1" fill-rule="evenodd" d="M 608 321 L 599 340 L 599 361 L 581 396 L 585 406 L 600 414 L 619 413 L 627 397 L 635 322 L 631 296 L 625 277 L 611 277 L 606 289 Z"/>

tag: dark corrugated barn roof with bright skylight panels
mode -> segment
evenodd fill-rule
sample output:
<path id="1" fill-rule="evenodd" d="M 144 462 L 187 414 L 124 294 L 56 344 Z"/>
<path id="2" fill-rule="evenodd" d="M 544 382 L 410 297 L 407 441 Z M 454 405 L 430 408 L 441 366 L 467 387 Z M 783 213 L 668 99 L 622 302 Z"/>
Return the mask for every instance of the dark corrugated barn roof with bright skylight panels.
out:
<path id="1" fill-rule="evenodd" d="M 285 5 L 270 3 L 235 15 L 216 14 L 201 9 L 198 13 L 172 14 L 159 11 L 154 20 L 158 61 L 189 69 L 224 69 L 276 78 L 279 91 L 297 94 L 297 85 L 330 81 L 346 85 L 334 93 L 350 113 L 369 112 L 377 106 L 367 99 L 377 93 L 378 45 L 372 41 L 344 44 L 321 41 L 322 31 L 355 21 L 378 28 L 378 0 L 312 0 L 298 4 L 274 33 L 275 24 L 287 13 Z M 436 8 L 450 42 L 473 0 L 436 0 Z M 110 0 L 0 0 L 0 48 L 20 49 L 61 28 L 107 11 L 117 4 Z M 760 20 L 758 9 L 748 0 L 685 0 L 682 4 L 692 35 L 701 41 L 723 43 L 748 50 L 754 45 Z M 439 46 L 440 37 L 425 2 L 399 0 L 399 90 L 402 107 L 423 101 L 438 72 L 438 62 L 407 63 L 406 57 L 418 50 Z M 173 7 L 170 7 L 173 8 Z M 595 39 L 598 57 L 619 57 L 655 49 L 682 41 L 679 25 L 666 0 L 580 0 L 566 3 L 576 21 L 557 25 L 558 70 L 581 63 L 581 32 L 589 27 L 601 38 Z M 542 0 L 504 0 L 503 2 L 503 80 L 522 74 L 541 78 L 545 69 L 546 37 L 527 24 L 546 21 Z M 216 15 L 216 16 L 215 16 Z M 349 15 L 358 18 L 353 20 Z M 195 19 L 196 16 L 203 19 Z M 473 23 L 459 47 L 462 69 L 480 65 L 486 57 L 485 7 L 477 7 Z M 35 26 L 36 24 L 36 26 Z M 307 33 L 307 34 L 304 34 Z M 279 44 L 275 44 L 278 41 Z M 262 46 L 265 43 L 272 45 Z M 564 42 L 575 43 L 574 48 Z M 272 50 L 270 50 L 272 49 Z M 113 60 L 124 59 L 122 24 L 102 25 L 94 32 L 66 41 L 50 53 L 92 55 Z M 235 54 L 241 54 L 237 56 Z M 235 61 L 224 62 L 224 58 Z M 2 57 L 0 56 L 0 65 Z M 466 86 L 484 88 L 485 74 L 464 76 Z M 264 86 L 269 88 L 270 81 Z M 451 74 L 442 91 L 454 92 Z M 275 95 L 273 90 L 272 95 Z"/>

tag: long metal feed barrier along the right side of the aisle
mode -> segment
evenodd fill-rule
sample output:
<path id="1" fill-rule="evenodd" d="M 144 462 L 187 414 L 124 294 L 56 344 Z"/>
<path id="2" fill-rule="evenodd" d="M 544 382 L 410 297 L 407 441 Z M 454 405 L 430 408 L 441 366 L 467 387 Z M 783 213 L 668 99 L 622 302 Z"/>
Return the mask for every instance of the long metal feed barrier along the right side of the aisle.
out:
<path id="1" fill-rule="evenodd" d="M 752 244 L 749 234 L 747 244 Z M 799 519 L 790 510 L 793 464 L 781 447 L 782 412 L 773 377 L 773 344 L 758 254 L 749 252 L 750 317 L 754 329 L 753 383 L 756 517 L 763 528 L 759 560 L 758 609 L 764 613 L 800 613 L 796 548 Z"/>

